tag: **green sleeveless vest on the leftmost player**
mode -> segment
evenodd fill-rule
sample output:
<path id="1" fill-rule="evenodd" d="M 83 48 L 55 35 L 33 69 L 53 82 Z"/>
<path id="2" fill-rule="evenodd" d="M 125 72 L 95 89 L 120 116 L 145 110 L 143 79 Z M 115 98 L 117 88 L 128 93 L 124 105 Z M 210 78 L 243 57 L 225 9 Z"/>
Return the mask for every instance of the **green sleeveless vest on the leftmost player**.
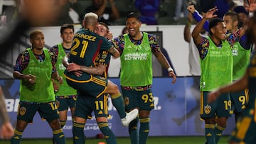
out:
<path id="1" fill-rule="evenodd" d="M 50 102 L 55 101 L 53 82 L 50 77 L 53 70 L 53 65 L 50 60 L 50 55 L 46 48 L 43 48 L 43 52 L 46 55 L 46 59 L 43 62 L 39 62 L 33 54 L 31 48 L 28 48 L 29 64 L 23 74 L 32 74 L 36 76 L 36 83 L 30 84 L 28 81 L 21 80 L 20 88 L 20 101 L 29 102 Z"/>

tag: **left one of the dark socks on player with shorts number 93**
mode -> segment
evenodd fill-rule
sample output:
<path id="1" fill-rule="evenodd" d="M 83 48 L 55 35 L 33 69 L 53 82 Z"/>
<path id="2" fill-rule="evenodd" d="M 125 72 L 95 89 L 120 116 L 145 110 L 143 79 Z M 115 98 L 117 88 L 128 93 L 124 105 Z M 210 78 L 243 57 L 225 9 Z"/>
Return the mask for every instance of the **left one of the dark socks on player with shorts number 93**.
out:
<path id="1" fill-rule="evenodd" d="M 129 123 L 129 137 L 132 144 L 138 144 L 139 143 L 139 133 L 137 130 L 137 125 L 139 122 L 139 118 L 134 119 Z"/>

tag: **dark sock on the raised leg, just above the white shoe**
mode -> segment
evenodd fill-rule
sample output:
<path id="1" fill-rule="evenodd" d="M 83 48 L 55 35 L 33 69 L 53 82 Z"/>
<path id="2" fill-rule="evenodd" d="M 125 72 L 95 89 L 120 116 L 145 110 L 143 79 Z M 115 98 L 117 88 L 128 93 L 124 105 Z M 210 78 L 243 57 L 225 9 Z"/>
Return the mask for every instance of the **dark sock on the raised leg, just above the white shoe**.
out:
<path id="1" fill-rule="evenodd" d="M 112 104 L 114 105 L 115 109 L 117 109 L 120 118 L 124 118 L 126 113 L 124 111 L 124 99 L 122 98 L 122 94 L 119 93 L 117 95 L 112 95 L 111 99 Z"/>

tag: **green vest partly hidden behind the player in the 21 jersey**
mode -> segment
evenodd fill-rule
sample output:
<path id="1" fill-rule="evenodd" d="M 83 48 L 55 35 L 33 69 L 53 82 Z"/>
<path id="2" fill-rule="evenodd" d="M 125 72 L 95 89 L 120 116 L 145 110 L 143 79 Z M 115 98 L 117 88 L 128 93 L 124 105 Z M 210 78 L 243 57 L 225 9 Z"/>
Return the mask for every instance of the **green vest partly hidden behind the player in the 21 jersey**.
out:
<path id="1" fill-rule="evenodd" d="M 56 69 L 58 74 L 64 77 L 65 67 L 62 63 L 63 57 L 65 57 L 65 51 L 61 43 L 58 43 L 58 60 L 56 62 Z M 76 95 L 77 91 L 70 87 L 65 79 L 63 79 L 63 84 L 59 84 L 59 90 L 55 93 L 55 96 L 70 96 Z"/>

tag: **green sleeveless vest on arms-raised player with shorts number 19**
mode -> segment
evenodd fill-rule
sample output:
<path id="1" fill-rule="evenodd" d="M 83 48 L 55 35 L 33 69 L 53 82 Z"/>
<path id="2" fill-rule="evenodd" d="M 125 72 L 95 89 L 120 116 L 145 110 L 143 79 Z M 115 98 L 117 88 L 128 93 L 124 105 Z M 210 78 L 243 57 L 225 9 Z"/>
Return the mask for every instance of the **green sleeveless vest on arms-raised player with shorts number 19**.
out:
<path id="1" fill-rule="evenodd" d="M 213 91 L 217 87 L 232 82 L 233 57 L 230 45 L 227 40 L 222 41 L 222 48 L 217 48 L 213 41 L 210 41 L 208 54 L 201 61 L 201 91 Z"/>

